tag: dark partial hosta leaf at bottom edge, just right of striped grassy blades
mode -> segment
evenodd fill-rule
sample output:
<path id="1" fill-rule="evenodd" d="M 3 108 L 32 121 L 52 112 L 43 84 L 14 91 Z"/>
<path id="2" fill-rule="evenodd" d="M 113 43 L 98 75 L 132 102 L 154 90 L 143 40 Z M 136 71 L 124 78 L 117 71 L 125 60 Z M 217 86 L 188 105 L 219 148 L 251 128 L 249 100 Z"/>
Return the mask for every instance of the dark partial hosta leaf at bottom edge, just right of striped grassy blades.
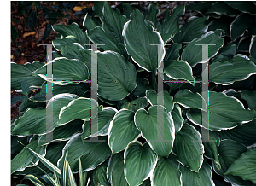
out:
<path id="1" fill-rule="evenodd" d="M 91 180 L 92 185 L 97 186 L 98 183 L 105 183 L 106 186 L 110 186 L 107 179 L 107 166 L 108 166 L 108 160 L 106 160 L 101 165 L 97 166 L 95 170 L 92 171 Z"/>

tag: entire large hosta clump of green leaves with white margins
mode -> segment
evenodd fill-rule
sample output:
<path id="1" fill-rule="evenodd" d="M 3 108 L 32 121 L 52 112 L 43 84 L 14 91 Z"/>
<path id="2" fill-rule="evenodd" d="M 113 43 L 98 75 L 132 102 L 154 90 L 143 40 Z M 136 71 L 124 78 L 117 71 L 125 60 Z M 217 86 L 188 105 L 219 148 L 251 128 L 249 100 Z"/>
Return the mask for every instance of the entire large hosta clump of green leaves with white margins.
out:
<path id="1" fill-rule="evenodd" d="M 178 6 L 159 20 L 153 4 L 143 12 L 95 2 L 83 28 L 52 26 L 61 34 L 52 61 L 11 64 L 12 89 L 41 89 L 12 121 L 11 173 L 46 177 L 36 153 L 61 175 L 67 161 L 74 174 L 87 172 L 90 185 L 256 184 L 255 33 L 241 54 L 241 37 L 209 30 L 209 16 L 179 26 L 184 13 Z M 212 44 L 208 60 L 198 44 Z"/>

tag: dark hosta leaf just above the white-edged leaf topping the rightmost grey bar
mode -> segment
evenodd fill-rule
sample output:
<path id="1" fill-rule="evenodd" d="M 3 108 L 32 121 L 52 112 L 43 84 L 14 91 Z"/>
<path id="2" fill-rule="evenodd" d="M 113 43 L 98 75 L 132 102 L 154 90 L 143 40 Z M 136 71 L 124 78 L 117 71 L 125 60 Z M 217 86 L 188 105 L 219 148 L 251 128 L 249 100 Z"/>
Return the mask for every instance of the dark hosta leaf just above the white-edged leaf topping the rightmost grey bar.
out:
<path id="1" fill-rule="evenodd" d="M 174 43 L 189 43 L 195 38 L 200 38 L 202 34 L 207 32 L 207 26 L 205 24 L 207 17 L 192 17 L 189 22 L 180 28 L 174 38 Z M 200 43 L 201 44 L 201 43 Z M 211 43 L 212 44 L 212 43 Z M 194 45 L 195 47 L 195 45 Z M 194 53 L 195 54 L 195 53 Z"/>

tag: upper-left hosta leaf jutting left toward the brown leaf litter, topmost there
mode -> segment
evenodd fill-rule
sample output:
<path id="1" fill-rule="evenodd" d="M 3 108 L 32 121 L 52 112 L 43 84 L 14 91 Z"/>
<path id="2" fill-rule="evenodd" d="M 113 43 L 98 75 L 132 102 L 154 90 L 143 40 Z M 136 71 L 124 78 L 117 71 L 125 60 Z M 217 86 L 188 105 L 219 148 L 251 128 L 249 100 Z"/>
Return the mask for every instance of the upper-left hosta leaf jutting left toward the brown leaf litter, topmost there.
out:
<path id="1" fill-rule="evenodd" d="M 55 32 L 58 32 L 61 34 L 62 38 L 65 38 L 67 36 L 73 36 L 78 39 L 79 44 L 89 44 L 89 39 L 86 36 L 86 33 L 83 32 L 80 28 L 79 25 L 75 22 L 73 22 L 71 25 L 55 25 L 52 26 L 53 30 Z"/>

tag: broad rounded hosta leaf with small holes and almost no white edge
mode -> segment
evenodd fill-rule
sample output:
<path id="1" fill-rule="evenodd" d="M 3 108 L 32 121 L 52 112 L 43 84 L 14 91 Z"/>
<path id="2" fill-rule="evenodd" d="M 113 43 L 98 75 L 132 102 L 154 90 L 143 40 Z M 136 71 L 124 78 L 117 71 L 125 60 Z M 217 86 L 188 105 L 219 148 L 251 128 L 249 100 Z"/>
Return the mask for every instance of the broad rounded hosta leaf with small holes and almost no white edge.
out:
<path id="1" fill-rule="evenodd" d="M 83 51 L 84 63 L 88 67 L 90 52 L 91 50 Z M 110 101 L 119 101 L 128 96 L 137 85 L 135 67 L 122 55 L 111 51 L 97 52 L 97 58 L 98 94 Z"/>

